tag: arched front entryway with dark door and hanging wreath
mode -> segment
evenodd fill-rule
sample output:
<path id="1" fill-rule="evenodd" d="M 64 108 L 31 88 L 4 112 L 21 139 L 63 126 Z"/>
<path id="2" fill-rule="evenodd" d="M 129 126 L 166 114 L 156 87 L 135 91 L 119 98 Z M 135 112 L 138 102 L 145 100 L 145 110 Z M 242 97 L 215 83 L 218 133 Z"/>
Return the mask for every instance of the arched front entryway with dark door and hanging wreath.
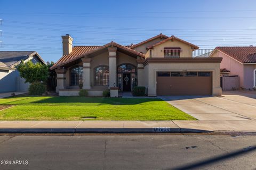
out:
<path id="1" fill-rule="evenodd" d="M 127 63 L 117 66 L 117 82 L 122 91 L 131 91 L 137 86 L 136 67 Z"/>

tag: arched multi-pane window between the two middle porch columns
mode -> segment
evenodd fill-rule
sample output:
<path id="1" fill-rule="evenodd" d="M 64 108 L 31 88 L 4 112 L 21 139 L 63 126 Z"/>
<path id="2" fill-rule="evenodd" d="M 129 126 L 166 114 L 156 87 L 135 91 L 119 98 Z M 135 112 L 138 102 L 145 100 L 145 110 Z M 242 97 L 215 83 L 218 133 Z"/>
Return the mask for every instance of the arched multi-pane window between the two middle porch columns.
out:
<path id="1" fill-rule="evenodd" d="M 94 70 L 94 85 L 95 86 L 109 86 L 109 67 L 101 65 Z"/>

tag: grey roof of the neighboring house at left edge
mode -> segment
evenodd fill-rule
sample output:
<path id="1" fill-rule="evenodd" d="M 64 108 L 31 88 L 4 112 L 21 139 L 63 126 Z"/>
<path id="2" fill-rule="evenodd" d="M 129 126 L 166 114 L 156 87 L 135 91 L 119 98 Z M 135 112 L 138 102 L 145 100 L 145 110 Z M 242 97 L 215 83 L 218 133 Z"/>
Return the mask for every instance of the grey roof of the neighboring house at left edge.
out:
<path id="1" fill-rule="evenodd" d="M 0 66 L 13 68 L 21 60 L 27 60 L 30 56 L 36 55 L 38 60 L 45 64 L 43 59 L 33 51 L 4 51 L 0 52 Z"/>

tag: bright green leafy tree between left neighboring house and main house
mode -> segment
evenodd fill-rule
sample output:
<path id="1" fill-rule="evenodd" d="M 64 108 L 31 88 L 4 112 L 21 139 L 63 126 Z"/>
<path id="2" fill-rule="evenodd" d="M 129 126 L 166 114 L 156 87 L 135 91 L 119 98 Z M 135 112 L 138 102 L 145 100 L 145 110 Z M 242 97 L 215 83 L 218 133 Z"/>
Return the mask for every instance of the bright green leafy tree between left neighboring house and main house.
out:
<path id="1" fill-rule="evenodd" d="M 20 72 L 20 77 L 25 79 L 25 82 L 34 83 L 45 81 L 49 76 L 48 67 L 42 63 L 33 63 L 31 61 L 24 62 L 18 65 L 17 70 Z"/>

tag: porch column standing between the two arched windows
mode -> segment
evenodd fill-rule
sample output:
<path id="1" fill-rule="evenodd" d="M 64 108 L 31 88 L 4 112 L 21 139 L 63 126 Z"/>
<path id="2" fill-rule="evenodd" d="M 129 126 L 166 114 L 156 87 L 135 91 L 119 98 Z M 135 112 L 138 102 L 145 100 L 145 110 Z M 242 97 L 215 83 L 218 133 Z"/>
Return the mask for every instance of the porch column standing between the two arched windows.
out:
<path id="1" fill-rule="evenodd" d="M 91 58 L 82 58 L 83 62 L 83 89 L 91 89 L 90 70 Z"/>

